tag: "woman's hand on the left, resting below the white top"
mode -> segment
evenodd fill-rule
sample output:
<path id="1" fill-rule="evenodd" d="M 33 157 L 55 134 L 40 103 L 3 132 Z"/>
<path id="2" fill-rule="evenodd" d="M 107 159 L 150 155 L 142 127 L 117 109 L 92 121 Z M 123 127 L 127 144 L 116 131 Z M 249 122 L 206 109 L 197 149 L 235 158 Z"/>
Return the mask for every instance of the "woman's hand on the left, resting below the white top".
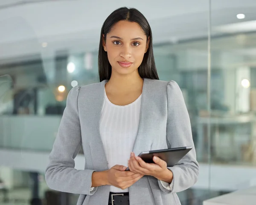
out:
<path id="1" fill-rule="evenodd" d="M 130 187 L 144 175 L 125 171 L 127 167 L 115 165 L 107 171 L 108 185 L 121 188 L 122 190 Z"/>

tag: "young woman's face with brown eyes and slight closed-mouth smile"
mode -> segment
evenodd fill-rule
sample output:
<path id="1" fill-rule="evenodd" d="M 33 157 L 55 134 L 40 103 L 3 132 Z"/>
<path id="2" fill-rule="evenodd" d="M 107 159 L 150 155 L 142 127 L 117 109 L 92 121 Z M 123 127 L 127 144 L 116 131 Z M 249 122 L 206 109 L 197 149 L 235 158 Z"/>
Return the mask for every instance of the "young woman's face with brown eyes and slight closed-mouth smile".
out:
<path id="1" fill-rule="evenodd" d="M 124 20 L 116 23 L 103 42 L 112 73 L 131 74 L 137 71 L 148 50 L 148 43 L 149 39 L 147 42 L 139 24 Z"/>

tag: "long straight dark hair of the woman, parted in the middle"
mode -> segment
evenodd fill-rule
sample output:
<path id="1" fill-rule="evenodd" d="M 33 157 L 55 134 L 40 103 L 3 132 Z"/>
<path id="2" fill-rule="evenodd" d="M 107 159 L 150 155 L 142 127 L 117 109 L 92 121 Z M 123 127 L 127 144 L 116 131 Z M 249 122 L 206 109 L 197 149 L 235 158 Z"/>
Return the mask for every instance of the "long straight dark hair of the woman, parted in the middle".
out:
<path id="1" fill-rule="evenodd" d="M 145 35 L 150 38 L 148 44 L 148 51 L 144 54 L 143 61 L 138 68 L 140 77 L 142 78 L 149 78 L 149 79 L 156 79 L 159 80 L 157 74 L 157 68 L 154 62 L 154 54 L 153 54 L 153 44 L 152 44 L 152 31 L 149 26 L 148 21 L 143 16 L 140 11 L 137 9 L 128 9 L 127 7 L 122 7 L 113 11 L 108 18 L 105 20 L 102 26 L 102 30 L 100 33 L 100 41 L 99 41 L 99 80 L 109 80 L 111 77 L 111 65 L 108 61 L 108 54 L 103 48 L 103 34 L 105 35 L 104 40 L 106 41 L 107 34 L 111 31 L 111 28 L 114 26 L 115 23 L 119 22 L 120 20 L 127 20 L 130 22 L 136 22 L 140 25 L 143 29 Z"/>

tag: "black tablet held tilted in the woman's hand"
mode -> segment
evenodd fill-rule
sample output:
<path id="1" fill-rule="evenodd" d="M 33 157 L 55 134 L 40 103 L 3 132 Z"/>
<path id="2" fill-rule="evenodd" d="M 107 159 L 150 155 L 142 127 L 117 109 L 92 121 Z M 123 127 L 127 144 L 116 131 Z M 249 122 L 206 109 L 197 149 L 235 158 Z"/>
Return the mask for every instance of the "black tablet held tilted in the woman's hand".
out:
<path id="1" fill-rule="evenodd" d="M 173 167 L 191 149 L 192 149 L 192 146 L 171 148 L 171 149 L 152 150 L 152 151 L 143 151 L 139 154 L 139 157 L 141 159 L 143 159 L 144 162 L 154 163 L 153 157 L 157 156 L 160 159 L 163 159 L 164 161 L 166 161 L 167 167 Z M 125 171 L 129 171 L 129 168 L 126 168 Z"/>

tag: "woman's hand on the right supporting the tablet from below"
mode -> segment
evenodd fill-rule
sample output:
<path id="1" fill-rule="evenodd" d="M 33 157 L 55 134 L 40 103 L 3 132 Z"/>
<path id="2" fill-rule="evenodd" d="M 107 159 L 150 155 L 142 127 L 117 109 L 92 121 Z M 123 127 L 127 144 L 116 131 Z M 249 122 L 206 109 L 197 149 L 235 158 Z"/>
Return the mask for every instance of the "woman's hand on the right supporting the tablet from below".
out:
<path id="1" fill-rule="evenodd" d="M 164 182 L 171 183 L 173 179 L 172 171 L 167 168 L 167 163 L 159 157 L 153 157 L 154 163 L 146 163 L 140 157 L 136 157 L 132 152 L 128 160 L 128 167 L 131 172 L 153 176 Z"/>

